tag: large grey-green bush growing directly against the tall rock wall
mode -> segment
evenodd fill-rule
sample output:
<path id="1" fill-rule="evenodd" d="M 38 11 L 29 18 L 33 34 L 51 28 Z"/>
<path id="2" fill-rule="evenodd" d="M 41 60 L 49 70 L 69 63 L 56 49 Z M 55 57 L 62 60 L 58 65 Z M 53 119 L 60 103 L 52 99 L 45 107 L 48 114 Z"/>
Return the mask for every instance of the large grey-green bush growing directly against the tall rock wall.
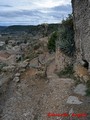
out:
<path id="1" fill-rule="evenodd" d="M 75 52 L 73 16 L 69 15 L 62 21 L 62 28 L 59 30 L 59 47 L 67 56 L 73 56 Z"/>

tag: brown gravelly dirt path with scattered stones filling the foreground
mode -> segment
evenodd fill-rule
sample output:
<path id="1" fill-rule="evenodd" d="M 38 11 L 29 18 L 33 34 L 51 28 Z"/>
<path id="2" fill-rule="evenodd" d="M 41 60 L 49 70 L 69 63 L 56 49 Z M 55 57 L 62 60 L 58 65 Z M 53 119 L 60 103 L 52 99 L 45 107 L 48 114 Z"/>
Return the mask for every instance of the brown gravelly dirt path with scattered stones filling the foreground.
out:
<path id="1" fill-rule="evenodd" d="M 54 70 L 53 60 L 48 67 L 48 81 L 35 77 L 32 68 L 21 75 L 20 82 L 11 81 L 0 98 L 0 120 L 61 120 L 48 117 L 48 113 L 69 113 L 72 109 L 75 113 L 89 113 L 86 97 L 73 92 L 74 80 L 59 78 Z"/>

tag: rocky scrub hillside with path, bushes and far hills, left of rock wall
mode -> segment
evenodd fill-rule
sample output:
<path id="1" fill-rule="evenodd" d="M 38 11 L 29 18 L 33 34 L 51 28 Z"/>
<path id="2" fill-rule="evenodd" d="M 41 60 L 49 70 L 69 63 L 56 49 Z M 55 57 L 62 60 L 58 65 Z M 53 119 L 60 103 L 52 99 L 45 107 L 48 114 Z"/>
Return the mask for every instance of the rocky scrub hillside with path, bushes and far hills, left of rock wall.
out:
<path id="1" fill-rule="evenodd" d="M 73 15 L 61 24 L 4 27 L 0 41 L 5 42 L 0 51 L 1 119 L 49 120 L 49 112 L 89 112 L 85 95 L 90 95 L 90 83 L 82 84 L 75 76 Z M 66 62 L 62 70 L 55 63 L 57 50 Z"/>

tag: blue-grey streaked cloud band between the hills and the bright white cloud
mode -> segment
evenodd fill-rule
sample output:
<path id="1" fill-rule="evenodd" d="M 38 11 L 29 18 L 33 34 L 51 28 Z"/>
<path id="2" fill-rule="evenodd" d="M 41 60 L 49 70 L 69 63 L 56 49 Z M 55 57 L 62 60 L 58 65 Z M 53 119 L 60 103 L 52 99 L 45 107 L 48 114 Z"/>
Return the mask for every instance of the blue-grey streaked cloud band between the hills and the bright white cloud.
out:
<path id="1" fill-rule="evenodd" d="M 44 10 L 46 12 L 42 12 Z M 48 9 L 2 11 L 0 12 L 0 21 L 2 19 L 0 24 L 36 25 L 41 23 L 56 23 L 60 22 L 63 17 L 67 17 L 71 11 L 72 10 L 69 5 L 56 6 Z"/>

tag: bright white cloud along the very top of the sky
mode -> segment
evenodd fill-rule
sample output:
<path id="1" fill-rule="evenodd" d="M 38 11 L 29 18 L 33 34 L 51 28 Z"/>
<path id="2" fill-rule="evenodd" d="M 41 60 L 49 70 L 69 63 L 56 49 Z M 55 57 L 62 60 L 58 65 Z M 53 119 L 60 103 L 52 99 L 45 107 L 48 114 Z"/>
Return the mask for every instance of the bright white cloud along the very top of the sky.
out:
<path id="1" fill-rule="evenodd" d="M 0 1 L 1 5 L 7 4 L 13 6 L 7 10 L 32 10 L 32 9 L 41 9 L 41 8 L 52 8 L 55 6 L 69 5 L 71 0 L 2 0 Z M 3 9 L 4 10 L 4 9 Z"/>

